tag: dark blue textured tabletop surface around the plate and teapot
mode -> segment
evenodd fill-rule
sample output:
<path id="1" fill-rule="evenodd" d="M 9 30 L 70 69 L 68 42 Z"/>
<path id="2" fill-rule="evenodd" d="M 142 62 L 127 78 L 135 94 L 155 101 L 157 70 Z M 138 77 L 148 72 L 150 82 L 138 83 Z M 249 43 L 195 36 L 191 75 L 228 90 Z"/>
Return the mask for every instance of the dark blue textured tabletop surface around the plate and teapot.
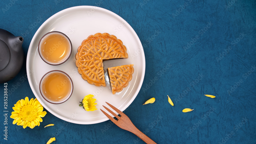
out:
<path id="1" fill-rule="evenodd" d="M 144 82 L 124 111 L 138 129 L 157 143 L 256 143 L 256 70 L 252 68 L 256 65 L 255 0 L 59 1 L 1 1 L 0 28 L 24 37 L 23 68 L 8 82 L 8 88 L 21 83 L 8 97 L 9 116 L 19 99 L 35 98 L 24 79 L 25 61 L 40 25 L 63 9 L 98 5 L 125 19 L 143 44 Z M 37 17 L 42 20 L 31 26 Z M 29 34 L 25 35 L 26 30 Z M 171 66 L 166 71 L 167 64 Z M 6 141 L 3 89 L 0 84 L 2 143 L 46 143 L 50 137 L 56 137 L 53 143 L 143 143 L 110 120 L 79 125 L 49 112 L 34 129 L 13 125 L 8 116 Z M 151 97 L 156 98 L 155 103 L 142 105 Z M 183 113 L 184 108 L 194 111 Z M 50 123 L 55 126 L 43 127 Z"/>

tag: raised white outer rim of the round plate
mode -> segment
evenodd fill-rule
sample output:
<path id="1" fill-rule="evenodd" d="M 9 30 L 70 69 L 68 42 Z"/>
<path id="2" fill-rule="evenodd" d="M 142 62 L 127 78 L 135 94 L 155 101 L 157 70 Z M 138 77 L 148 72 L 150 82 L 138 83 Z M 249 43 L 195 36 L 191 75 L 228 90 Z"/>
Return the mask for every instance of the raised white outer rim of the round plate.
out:
<path id="1" fill-rule="evenodd" d="M 34 34 L 33 38 L 31 39 L 31 42 L 30 42 L 30 45 L 29 45 L 29 48 L 28 48 L 28 53 L 27 53 L 26 71 L 27 71 L 28 82 L 29 82 L 29 85 L 30 85 L 30 88 L 31 88 L 33 94 L 34 94 L 35 97 L 36 97 L 36 90 L 35 90 L 34 86 L 32 85 L 32 79 L 31 79 L 31 74 L 30 74 L 30 69 L 31 69 L 31 68 L 30 68 L 30 66 L 29 66 L 29 63 L 30 63 L 31 58 L 32 58 L 32 57 L 30 56 L 31 53 L 32 53 L 32 52 L 31 52 L 31 51 L 32 51 L 32 43 L 34 43 L 36 36 L 39 34 L 39 31 L 40 31 L 46 24 L 48 24 L 48 22 L 49 22 L 51 19 L 55 18 L 56 16 L 60 15 L 61 13 L 65 13 L 66 11 L 74 10 L 74 9 L 88 9 L 88 8 L 94 8 L 95 10 L 100 10 L 100 11 L 106 12 L 106 13 L 112 15 L 113 17 L 118 18 L 118 19 L 121 20 L 121 21 L 125 21 L 125 22 L 126 22 L 126 26 L 129 27 L 129 31 L 131 31 L 131 32 L 133 33 L 133 35 L 135 36 L 135 38 L 138 40 L 138 44 L 140 45 L 140 47 L 139 47 L 138 49 L 141 49 L 141 53 L 142 53 L 142 56 L 143 56 L 143 58 L 142 58 L 143 61 L 142 61 L 142 76 L 141 76 L 141 81 L 140 81 L 139 84 L 138 84 L 138 88 L 137 88 L 137 90 L 136 90 L 134 96 L 131 98 L 131 100 L 130 100 L 128 103 L 125 104 L 125 106 L 124 106 L 123 109 L 120 109 L 120 110 L 123 112 L 127 107 L 129 107 L 129 106 L 131 105 L 131 103 L 132 103 L 132 102 L 134 101 L 134 99 L 137 97 L 137 95 L 138 95 L 138 93 L 139 93 L 139 91 L 140 91 L 140 89 L 141 89 L 142 83 L 143 83 L 143 81 L 144 81 L 145 68 L 146 68 L 144 49 L 143 49 L 142 43 L 141 43 L 141 41 L 140 41 L 138 35 L 137 35 L 136 32 L 134 31 L 134 29 L 130 26 L 130 24 L 127 23 L 126 20 L 124 20 L 122 17 L 120 17 L 119 15 L 115 14 L 114 12 L 111 12 L 110 10 L 107 10 L 107 9 L 104 9 L 104 8 L 101 8 L 101 7 L 96 7 L 96 8 L 97 8 L 97 9 L 96 9 L 95 7 L 96 7 L 96 6 L 74 6 L 74 7 L 70 7 L 70 8 L 63 9 L 63 10 L 59 11 L 58 13 L 56 13 L 56 14 L 52 15 L 51 17 L 49 17 L 49 18 L 37 29 L 36 33 Z M 38 101 L 40 102 L 41 100 L 38 99 Z M 105 118 L 100 119 L 100 120 L 94 120 L 94 121 L 90 121 L 90 122 L 86 122 L 86 121 L 85 121 L 85 122 L 83 122 L 83 123 L 79 123 L 79 122 L 81 122 L 81 121 L 75 121 L 75 120 L 70 121 L 68 118 L 63 117 L 63 116 L 61 116 L 61 115 L 59 115 L 59 114 L 53 112 L 53 111 L 52 111 L 50 108 L 48 108 L 48 106 L 46 106 L 43 102 L 40 102 L 40 103 L 41 103 L 42 106 L 43 106 L 46 110 L 48 110 L 48 112 L 50 112 L 52 115 L 54 115 L 54 116 L 56 116 L 56 117 L 58 117 L 58 118 L 60 118 L 60 119 L 62 119 L 62 120 L 65 120 L 65 121 L 67 121 L 67 122 L 74 123 L 74 124 L 97 124 L 97 123 L 101 123 L 101 122 L 104 122 L 104 121 L 109 120 L 109 118 L 105 117 Z M 114 116 L 113 116 L 113 117 L 114 117 Z"/>

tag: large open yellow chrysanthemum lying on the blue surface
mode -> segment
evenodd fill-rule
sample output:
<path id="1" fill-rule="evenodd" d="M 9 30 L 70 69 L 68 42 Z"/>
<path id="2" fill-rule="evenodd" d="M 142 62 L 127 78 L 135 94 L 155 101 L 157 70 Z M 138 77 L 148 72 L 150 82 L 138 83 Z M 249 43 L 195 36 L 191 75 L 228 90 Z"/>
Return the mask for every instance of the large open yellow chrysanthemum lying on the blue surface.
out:
<path id="1" fill-rule="evenodd" d="M 42 118 L 46 115 L 46 112 L 43 112 L 44 107 L 38 102 L 35 98 L 31 98 L 30 101 L 28 97 L 19 100 L 14 104 L 12 115 L 10 118 L 13 118 L 13 124 L 18 126 L 23 126 L 23 128 L 30 127 L 34 128 L 39 126 L 42 122 Z"/>

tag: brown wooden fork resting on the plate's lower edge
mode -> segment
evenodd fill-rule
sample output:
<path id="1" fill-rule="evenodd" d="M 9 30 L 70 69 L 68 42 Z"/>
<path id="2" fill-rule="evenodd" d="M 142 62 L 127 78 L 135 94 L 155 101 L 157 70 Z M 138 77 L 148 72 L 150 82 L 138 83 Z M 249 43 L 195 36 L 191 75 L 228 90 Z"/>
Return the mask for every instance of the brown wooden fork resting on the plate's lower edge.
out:
<path id="1" fill-rule="evenodd" d="M 106 110 L 108 110 L 112 115 L 114 115 L 118 120 L 115 120 L 113 117 L 111 117 L 109 114 L 107 114 L 106 112 L 104 112 L 102 109 L 100 109 L 111 121 L 113 121 L 114 124 L 116 124 L 117 126 L 119 126 L 120 128 L 130 131 L 133 134 L 135 134 L 136 136 L 138 136 L 139 138 L 141 138 L 144 142 L 146 143 L 155 143 L 152 139 L 150 139 L 149 137 L 147 137 L 145 134 L 143 134 L 143 132 L 141 132 L 140 130 L 138 130 L 132 123 L 132 121 L 130 120 L 129 117 L 127 117 L 123 112 L 121 112 L 119 109 L 117 109 L 116 107 L 112 106 L 111 104 L 107 103 L 111 108 L 113 108 L 117 113 L 119 113 L 121 116 L 119 117 L 117 114 L 115 114 L 114 112 L 112 112 L 109 108 L 105 107 L 104 105 L 102 105 Z"/>

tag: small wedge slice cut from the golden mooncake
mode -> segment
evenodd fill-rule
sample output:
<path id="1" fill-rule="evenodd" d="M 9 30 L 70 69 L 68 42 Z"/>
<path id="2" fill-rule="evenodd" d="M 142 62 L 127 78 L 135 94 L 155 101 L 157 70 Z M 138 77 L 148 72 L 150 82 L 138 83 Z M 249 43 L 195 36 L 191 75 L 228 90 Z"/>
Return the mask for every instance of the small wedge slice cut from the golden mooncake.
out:
<path id="1" fill-rule="evenodd" d="M 132 80 L 133 64 L 108 68 L 112 93 L 118 93 Z"/>

